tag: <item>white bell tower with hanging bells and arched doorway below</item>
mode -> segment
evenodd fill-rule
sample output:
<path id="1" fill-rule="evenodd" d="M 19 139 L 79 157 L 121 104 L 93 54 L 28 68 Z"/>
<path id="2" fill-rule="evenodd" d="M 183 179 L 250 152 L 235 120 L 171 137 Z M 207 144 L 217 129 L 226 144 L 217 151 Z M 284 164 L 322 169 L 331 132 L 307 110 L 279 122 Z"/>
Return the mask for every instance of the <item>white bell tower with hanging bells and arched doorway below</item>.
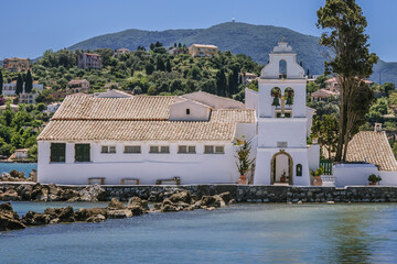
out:
<path id="1" fill-rule="evenodd" d="M 297 54 L 279 42 L 259 79 L 255 185 L 310 185 L 307 80 Z"/>

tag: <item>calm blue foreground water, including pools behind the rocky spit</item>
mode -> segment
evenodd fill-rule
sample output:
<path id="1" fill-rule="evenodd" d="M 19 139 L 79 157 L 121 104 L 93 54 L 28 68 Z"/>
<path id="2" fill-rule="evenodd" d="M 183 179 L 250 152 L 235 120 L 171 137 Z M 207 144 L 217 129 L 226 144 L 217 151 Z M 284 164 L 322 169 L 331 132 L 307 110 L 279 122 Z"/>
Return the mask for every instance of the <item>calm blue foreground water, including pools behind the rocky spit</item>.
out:
<path id="1" fill-rule="evenodd" d="M 12 205 L 20 215 L 66 206 Z M 0 263 L 341 262 L 397 262 L 397 204 L 240 204 L 0 233 Z"/>

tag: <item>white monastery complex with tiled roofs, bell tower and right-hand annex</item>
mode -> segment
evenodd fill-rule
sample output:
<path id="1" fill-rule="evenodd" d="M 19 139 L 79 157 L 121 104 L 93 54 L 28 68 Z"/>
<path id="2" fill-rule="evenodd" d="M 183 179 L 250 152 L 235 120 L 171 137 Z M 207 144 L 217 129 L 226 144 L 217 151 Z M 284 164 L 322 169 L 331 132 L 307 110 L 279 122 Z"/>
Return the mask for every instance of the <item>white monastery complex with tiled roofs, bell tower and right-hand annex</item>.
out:
<path id="1" fill-rule="evenodd" d="M 258 84 L 259 91 L 246 89 L 245 105 L 203 91 L 67 96 L 37 138 L 37 180 L 236 184 L 235 143 L 245 136 L 256 158 L 248 175 L 254 185 L 310 186 L 310 169 L 320 166 L 320 146 L 307 144 L 314 110 L 305 106 L 304 70 L 286 42 L 270 53 Z M 374 173 L 397 185 L 397 163 L 384 132 L 360 132 L 347 157 L 353 163 L 334 165 L 325 184 L 367 184 Z"/>

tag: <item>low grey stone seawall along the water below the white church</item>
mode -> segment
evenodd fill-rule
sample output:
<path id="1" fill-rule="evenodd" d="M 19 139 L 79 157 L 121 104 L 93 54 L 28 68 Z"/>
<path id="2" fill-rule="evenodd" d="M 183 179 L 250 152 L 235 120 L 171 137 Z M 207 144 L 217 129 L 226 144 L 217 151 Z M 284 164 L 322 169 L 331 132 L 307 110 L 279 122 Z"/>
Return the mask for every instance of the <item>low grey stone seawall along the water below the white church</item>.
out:
<path id="1" fill-rule="evenodd" d="M 128 200 L 139 196 L 149 201 L 159 201 L 178 189 L 210 196 L 229 191 L 238 202 L 397 202 L 397 187 L 354 186 L 294 187 L 294 186 L 239 186 L 239 185 L 189 185 L 189 186 L 103 186 L 108 199 Z"/>

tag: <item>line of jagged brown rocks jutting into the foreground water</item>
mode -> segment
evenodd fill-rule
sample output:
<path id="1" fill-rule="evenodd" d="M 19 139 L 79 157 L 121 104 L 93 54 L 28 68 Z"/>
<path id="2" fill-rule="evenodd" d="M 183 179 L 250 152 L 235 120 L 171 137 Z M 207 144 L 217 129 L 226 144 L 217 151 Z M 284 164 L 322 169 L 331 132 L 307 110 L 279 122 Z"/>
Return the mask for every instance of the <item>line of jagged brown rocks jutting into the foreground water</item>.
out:
<path id="1" fill-rule="evenodd" d="M 0 205 L 0 231 L 25 229 L 26 227 L 72 223 L 72 222 L 103 222 L 106 219 L 122 219 L 141 216 L 149 212 L 176 212 L 182 210 L 206 209 L 215 210 L 233 204 L 230 194 L 224 193 L 215 196 L 203 196 L 197 199 L 195 195 L 186 190 L 175 193 L 162 202 L 154 204 L 149 208 L 148 201 L 139 197 L 129 199 L 125 206 L 118 199 L 112 198 L 105 208 L 81 208 L 77 211 L 73 207 L 46 208 L 43 213 L 28 211 L 21 218 L 13 210 L 10 202 Z"/>

